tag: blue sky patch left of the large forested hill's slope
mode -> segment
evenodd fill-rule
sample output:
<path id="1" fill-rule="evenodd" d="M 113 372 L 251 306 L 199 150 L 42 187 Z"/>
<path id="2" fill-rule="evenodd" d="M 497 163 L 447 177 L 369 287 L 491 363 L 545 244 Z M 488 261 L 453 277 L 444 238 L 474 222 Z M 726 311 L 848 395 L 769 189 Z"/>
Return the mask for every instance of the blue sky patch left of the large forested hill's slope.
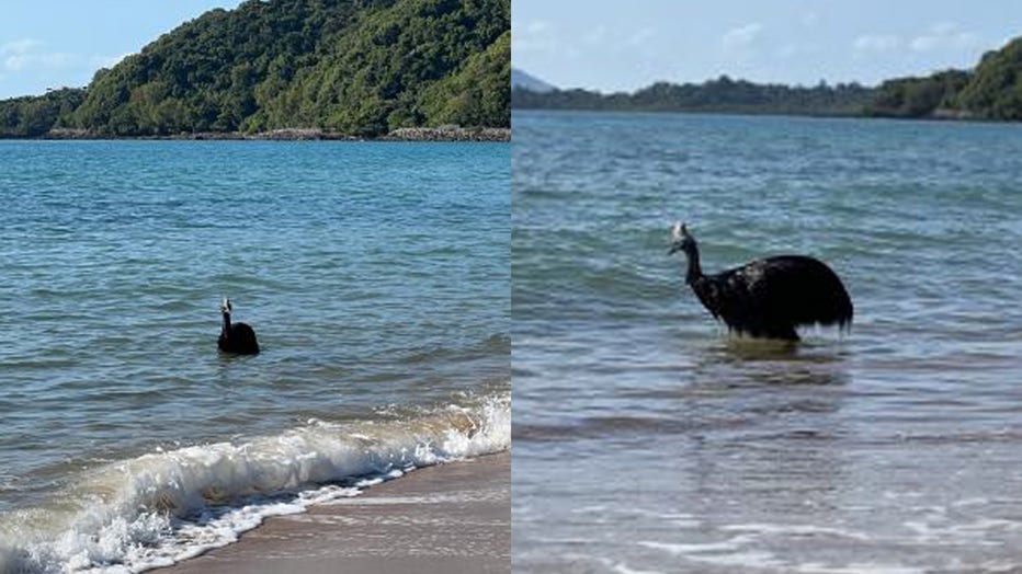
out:
<path id="1" fill-rule="evenodd" d="M 82 87 L 160 34 L 240 0 L 3 0 L 0 99 Z"/>

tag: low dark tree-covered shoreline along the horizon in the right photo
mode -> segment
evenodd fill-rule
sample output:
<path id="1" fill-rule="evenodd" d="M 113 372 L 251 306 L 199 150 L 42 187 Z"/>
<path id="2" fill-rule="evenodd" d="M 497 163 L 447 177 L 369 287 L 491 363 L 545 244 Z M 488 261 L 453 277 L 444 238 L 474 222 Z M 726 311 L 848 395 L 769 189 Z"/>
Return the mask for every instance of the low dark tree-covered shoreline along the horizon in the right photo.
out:
<path id="1" fill-rule="evenodd" d="M 625 112 L 729 112 L 905 118 L 1022 120 L 1022 38 L 988 51 L 972 70 L 896 78 L 876 88 L 758 84 L 723 76 L 702 84 L 656 83 L 635 93 L 515 89 L 520 108 Z"/>

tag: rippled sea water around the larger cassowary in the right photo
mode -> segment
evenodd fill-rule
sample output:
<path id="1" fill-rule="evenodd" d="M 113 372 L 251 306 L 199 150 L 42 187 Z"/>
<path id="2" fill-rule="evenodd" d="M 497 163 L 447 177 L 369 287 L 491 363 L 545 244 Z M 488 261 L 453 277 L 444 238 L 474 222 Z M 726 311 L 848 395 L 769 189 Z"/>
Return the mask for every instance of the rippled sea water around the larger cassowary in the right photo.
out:
<path id="1" fill-rule="evenodd" d="M 1022 127 L 515 113 L 515 572 L 1022 569 Z M 802 253 L 848 335 L 684 285 Z"/>

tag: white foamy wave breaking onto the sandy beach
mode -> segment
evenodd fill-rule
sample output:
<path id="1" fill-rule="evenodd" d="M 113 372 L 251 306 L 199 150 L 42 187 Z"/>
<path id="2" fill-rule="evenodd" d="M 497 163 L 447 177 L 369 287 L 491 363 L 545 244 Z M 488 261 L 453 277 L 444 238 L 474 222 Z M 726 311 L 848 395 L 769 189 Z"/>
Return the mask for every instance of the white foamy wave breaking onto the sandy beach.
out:
<path id="1" fill-rule="evenodd" d="M 504 393 L 400 422 L 310 421 L 276 436 L 157 451 L 93 469 L 48 507 L 3 517 L 0 572 L 169 565 L 229 544 L 269 516 L 510 446 Z"/>

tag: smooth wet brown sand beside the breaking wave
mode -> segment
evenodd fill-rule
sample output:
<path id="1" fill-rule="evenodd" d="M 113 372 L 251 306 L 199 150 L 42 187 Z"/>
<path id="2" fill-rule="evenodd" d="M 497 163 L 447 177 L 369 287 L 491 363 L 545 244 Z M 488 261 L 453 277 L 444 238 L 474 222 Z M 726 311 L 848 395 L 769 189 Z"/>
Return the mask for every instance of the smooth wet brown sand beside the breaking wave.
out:
<path id="1" fill-rule="evenodd" d="M 160 574 L 511 572 L 511 454 L 417 470 L 279 516 Z"/>

